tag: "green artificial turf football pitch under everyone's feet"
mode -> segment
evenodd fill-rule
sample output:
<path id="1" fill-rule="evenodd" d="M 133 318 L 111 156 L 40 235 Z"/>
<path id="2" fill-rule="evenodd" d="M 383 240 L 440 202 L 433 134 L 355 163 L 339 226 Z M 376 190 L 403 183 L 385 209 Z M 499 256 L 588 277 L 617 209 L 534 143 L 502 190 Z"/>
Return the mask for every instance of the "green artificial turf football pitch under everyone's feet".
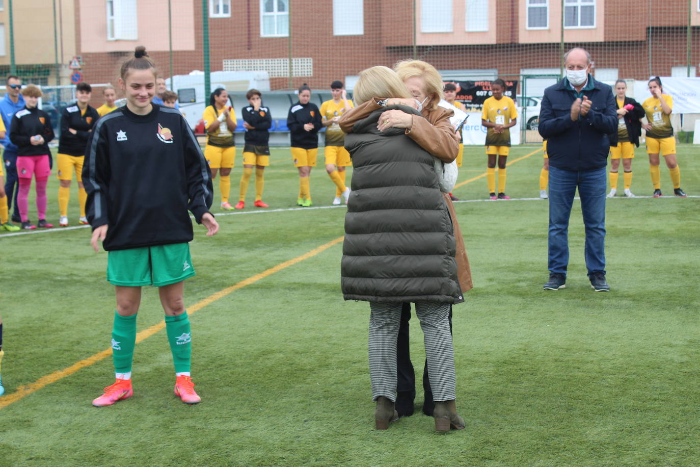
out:
<path id="1" fill-rule="evenodd" d="M 510 160 L 537 149 L 514 147 Z M 700 194 L 696 154 L 678 146 L 689 195 Z M 233 202 L 240 150 L 236 163 Z M 416 414 L 374 431 L 369 307 L 342 300 L 342 243 L 328 246 L 343 235 L 345 209 L 293 209 L 296 169 L 288 150 L 277 149 L 263 200 L 267 211 L 291 210 L 246 214 L 265 211 L 252 207 L 253 177 L 248 207 L 218 215 L 218 235 L 195 226 L 197 276 L 185 293 L 186 305 L 199 308 L 191 317 L 198 405 L 172 393 L 161 330 L 137 344 L 134 397 L 92 407 L 113 382 L 106 253 L 90 249 L 87 228 L 0 235 L 0 466 L 698 465 L 700 199 L 608 200 L 609 293 L 590 288 L 575 202 L 566 289 L 545 292 L 547 201 L 470 202 L 487 195 L 485 177 L 477 178 L 485 165 L 483 148 L 465 148 L 459 182 L 475 180 L 454 190 L 467 200 L 456 211 L 474 278 L 466 302 L 454 307 L 465 430 L 435 433 L 433 419 L 420 414 L 419 391 Z M 541 151 L 512 163 L 506 193 L 537 197 L 541 165 Z M 632 167 L 633 193 L 650 195 L 643 148 Z M 661 183 L 671 195 L 665 167 Z M 57 186 L 52 176 L 48 219 L 56 224 Z M 329 206 L 334 188 L 319 164 L 311 174 L 315 206 Z M 213 211 L 223 214 L 218 181 L 215 194 Z M 32 193 L 35 219 L 33 200 Z M 73 223 L 77 202 L 73 182 Z M 158 293 L 144 288 L 139 330 L 162 318 Z M 415 317 L 411 323 L 420 379 L 422 333 Z M 55 373 L 102 351 L 106 358 Z M 41 386 L 52 374 L 56 381 Z M 18 389 L 27 395 L 18 398 Z"/>

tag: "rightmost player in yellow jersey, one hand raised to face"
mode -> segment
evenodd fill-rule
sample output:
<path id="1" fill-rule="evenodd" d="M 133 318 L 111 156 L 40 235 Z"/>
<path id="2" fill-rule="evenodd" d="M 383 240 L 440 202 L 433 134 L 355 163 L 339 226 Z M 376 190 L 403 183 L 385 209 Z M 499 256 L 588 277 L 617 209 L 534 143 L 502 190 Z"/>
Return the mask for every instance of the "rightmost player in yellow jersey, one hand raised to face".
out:
<path id="1" fill-rule="evenodd" d="M 649 154 L 649 171 L 654 185 L 654 197 L 661 196 L 661 172 L 659 172 L 659 153 L 666 159 L 666 167 L 673 181 L 673 194 L 685 197 L 680 189 L 680 167 L 675 160 L 675 137 L 671 126 L 671 111 L 673 97 L 664 94 L 661 78 L 658 76 L 649 80 L 649 91 L 652 97 L 642 104 L 647 114 L 647 123 L 642 125 L 647 130 L 647 153 Z"/>

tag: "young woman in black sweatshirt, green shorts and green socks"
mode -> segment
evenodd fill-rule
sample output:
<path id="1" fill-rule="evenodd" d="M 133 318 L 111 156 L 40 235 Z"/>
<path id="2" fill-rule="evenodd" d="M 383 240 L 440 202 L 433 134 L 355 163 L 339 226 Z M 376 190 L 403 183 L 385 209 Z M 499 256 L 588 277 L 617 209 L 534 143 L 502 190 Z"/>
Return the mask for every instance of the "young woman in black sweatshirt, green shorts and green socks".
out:
<path id="1" fill-rule="evenodd" d="M 190 211 L 207 235 L 218 231 L 209 212 L 211 171 L 180 111 L 152 104 L 155 65 L 146 49 L 122 65 L 126 106 L 97 120 L 87 141 L 83 183 L 87 190 L 90 243 L 109 251 L 107 280 L 115 286 L 112 330 L 116 382 L 92 405 L 132 396 L 132 360 L 141 287 L 158 287 L 175 366 L 175 394 L 200 402 L 190 378 L 192 331 L 183 300 L 184 280 L 195 274 L 190 258 Z"/>

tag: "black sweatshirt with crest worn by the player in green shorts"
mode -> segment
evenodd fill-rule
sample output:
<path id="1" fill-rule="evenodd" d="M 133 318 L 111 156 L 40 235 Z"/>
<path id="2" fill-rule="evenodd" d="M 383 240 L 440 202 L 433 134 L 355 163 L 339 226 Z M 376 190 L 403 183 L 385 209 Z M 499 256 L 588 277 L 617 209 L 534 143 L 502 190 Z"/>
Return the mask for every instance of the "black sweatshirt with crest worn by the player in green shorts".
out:
<path id="1" fill-rule="evenodd" d="M 190 242 L 209 212 L 211 172 L 180 111 L 126 106 L 97 120 L 87 140 L 83 184 L 92 229 L 109 225 L 107 251 Z"/>

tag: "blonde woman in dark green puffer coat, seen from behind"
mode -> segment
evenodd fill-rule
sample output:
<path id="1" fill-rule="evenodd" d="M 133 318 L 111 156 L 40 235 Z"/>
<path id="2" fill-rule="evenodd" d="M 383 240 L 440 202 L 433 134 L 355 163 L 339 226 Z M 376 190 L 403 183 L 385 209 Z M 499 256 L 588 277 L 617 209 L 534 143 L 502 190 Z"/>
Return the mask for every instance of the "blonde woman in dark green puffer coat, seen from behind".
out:
<path id="1" fill-rule="evenodd" d="M 360 73 L 354 94 L 356 105 L 377 96 L 410 99 L 398 74 L 386 67 Z M 401 101 L 384 104 L 394 102 Z M 398 418 L 393 403 L 403 302 L 416 303 L 425 335 L 435 428 L 461 429 L 464 421 L 454 406 L 448 321 L 449 306 L 463 301 L 452 222 L 433 155 L 408 137 L 405 128 L 379 130 L 379 116 L 391 109 L 420 116 L 409 106 L 385 105 L 355 123 L 346 136 L 353 179 L 345 218 L 342 291 L 346 300 L 370 302 L 370 377 L 377 429 Z"/>

